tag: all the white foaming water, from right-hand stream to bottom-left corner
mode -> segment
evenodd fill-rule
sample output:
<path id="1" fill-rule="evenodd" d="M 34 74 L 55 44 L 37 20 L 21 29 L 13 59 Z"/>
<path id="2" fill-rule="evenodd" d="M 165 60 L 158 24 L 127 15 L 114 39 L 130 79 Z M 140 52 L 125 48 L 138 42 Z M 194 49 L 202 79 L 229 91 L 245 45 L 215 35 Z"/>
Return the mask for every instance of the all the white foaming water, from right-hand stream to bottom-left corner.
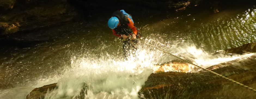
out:
<path id="1" fill-rule="evenodd" d="M 189 44 L 184 45 L 184 42 L 170 42 L 159 38 L 145 38 L 144 41 L 182 58 L 185 57 L 205 68 L 255 55 L 254 53 L 249 53 L 234 56 L 216 56 L 202 49 L 197 49 L 195 46 L 191 46 L 191 44 L 190 46 L 188 46 Z M 142 88 L 150 74 L 158 69 L 154 64 L 176 59 L 144 43 L 139 43 L 138 46 L 136 57 L 130 56 L 126 61 L 117 59 L 116 56 L 106 52 L 101 52 L 100 57 L 95 54 L 87 54 L 79 57 L 74 56 L 71 59 L 70 66 L 65 66 L 62 70 L 62 75 L 56 74 L 48 78 L 38 79 L 32 86 L 0 90 L 2 93 L 0 98 L 17 98 L 13 97 L 17 96 L 14 94 L 20 93 L 20 90 L 24 89 L 24 93 L 18 94 L 18 97 L 23 97 L 24 99 L 33 88 L 56 82 L 58 82 L 58 88 L 47 93 L 46 99 L 74 97 L 83 88 L 86 88 L 86 91 L 84 91 L 86 93 L 85 98 L 138 98 L 138 91 Z M 112 48 L 111 46 L 103 47 L 102 49 Z M 192 72 L 191 69 L 193 68 L 195 67 L 191 66 L 188 72 Z M 166 68 L 165 72 L 167 71 L 173 70 Z"/>

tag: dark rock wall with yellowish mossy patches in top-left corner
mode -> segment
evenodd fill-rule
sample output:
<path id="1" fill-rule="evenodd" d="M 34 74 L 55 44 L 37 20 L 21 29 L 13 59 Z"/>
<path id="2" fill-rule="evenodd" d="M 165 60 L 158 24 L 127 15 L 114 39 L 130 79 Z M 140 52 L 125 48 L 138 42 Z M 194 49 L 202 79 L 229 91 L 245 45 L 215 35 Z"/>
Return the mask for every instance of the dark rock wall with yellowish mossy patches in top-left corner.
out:
<path id="1" fill-rule="evenodd" d="M 0 13 L 0 35 L 60 25 L 76 15 L 74 8 L 65 0 L 19 1 L 11 11 Z"/>

